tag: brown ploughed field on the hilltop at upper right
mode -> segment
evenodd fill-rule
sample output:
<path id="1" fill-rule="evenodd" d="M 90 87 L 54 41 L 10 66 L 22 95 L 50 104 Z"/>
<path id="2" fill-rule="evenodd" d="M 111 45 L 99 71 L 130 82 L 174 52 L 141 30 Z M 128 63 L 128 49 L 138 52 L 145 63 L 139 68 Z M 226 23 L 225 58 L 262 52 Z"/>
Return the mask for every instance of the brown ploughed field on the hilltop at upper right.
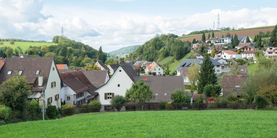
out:
<path id="1" fill-rule="evenodd" d="M 274 29 L 274 26 L 265 26 L 265 27 L 255 27 L 255 28 L 247 28 L 247 29 L 239 29 L 239 30 L 230 30 L 230 31 L 221 31 L 221 32 L 215 32 L 215 37 L 222 38 L 222 35 L 225 37 L 226 33 L 229 32 L 231 35 L 235 35 L 235 33 L 238 36 L 250 36 L 253 37 L 259 32 L 266 33 L 267 31 L 272 31 Z M 208 38 L 209 33 L 205 33 L 206 39 Z M 181 41 L 192 41 L 193 39 L 195 40 L 200 40 L 202 37 L 202 34 L 194 34 L 194 35 L 185 35 L 185 36 L 180 36 L 179 39 Z"/>

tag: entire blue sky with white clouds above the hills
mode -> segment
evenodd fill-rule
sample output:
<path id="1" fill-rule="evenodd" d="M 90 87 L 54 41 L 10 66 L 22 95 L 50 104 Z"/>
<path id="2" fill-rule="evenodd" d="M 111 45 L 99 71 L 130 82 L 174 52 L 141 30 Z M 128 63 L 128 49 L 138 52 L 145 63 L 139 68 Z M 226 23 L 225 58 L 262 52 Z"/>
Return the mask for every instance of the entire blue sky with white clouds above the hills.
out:
<path id="1" fill-rule="evenodd" d="M 156 34 L 276 25 L 277 1 L 0 0 L 0 38 L 51 41 L 61 35 L 110 52 Z"/>

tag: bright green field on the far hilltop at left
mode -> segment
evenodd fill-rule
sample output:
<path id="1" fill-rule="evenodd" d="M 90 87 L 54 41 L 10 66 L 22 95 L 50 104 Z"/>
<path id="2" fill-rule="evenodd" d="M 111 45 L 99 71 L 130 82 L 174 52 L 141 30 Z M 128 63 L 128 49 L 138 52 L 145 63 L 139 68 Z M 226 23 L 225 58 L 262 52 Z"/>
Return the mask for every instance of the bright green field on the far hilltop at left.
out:
<path id="1" fill-rule="evenodd" d="M 20 46 L 22 48 L 22 51 L 25 52 L 25 50 L 27 48 L 29 48 L 29 46 L 50 46 L 50 45 L 56 45 L 55 43 L 35 43 L 35 42 L 14 42 L 13 45 L 10 45 L 10 42 L 3 42 L 4 44 L 2 45 L 2 47 L 4 46 L 10 46 L 11 48 L 16 48 L 17 46 Z"/>

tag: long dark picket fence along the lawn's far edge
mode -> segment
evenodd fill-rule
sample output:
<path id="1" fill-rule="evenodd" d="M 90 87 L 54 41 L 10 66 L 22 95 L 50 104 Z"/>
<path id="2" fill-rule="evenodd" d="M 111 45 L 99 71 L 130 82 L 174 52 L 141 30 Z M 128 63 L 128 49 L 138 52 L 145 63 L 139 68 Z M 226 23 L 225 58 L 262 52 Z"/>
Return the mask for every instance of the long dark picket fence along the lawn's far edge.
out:
<path id="1" fill-rule="evenodd" d="M 253 102 L 226 103 L 145 103 L 123 105 L 80 105 L 62 109 L 61 117 L 91 112 L 126 112 L 126 111 L 160 111 L 160 110 L 254 110 Z"/>

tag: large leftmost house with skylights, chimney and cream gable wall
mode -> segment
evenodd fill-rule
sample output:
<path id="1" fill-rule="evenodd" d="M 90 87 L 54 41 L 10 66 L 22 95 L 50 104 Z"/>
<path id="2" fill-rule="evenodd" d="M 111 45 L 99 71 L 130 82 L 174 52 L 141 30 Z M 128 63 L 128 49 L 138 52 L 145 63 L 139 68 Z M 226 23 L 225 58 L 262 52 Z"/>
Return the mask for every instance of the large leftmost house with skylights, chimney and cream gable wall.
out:
<path id="1" fill-rule="evenodd" d="M 26 76 L 27 83 L 33 86 L 29 99 L 36 99 L 42 104 L 42 90 L 44 90 L 45 107 L 48 103 L 61 107 L 62 83 L 53 57 L 6 58 L 0 71 L 0 84 L 17 73 Z M 38 78 L 43 80 L 42 86 L 38 86 Z"/>

